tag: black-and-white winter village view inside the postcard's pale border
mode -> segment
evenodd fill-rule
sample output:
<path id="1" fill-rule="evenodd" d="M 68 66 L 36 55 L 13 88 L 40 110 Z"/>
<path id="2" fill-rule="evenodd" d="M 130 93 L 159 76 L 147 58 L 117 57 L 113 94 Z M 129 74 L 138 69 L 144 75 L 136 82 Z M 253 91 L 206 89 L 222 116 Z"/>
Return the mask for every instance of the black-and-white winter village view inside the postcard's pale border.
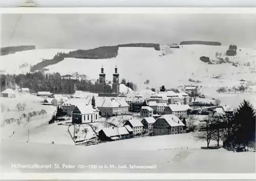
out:
<path id="1" fill-rule="evenodd" d="M 255 173 L 255 22 L 1 14 L 1 172 Z"/>

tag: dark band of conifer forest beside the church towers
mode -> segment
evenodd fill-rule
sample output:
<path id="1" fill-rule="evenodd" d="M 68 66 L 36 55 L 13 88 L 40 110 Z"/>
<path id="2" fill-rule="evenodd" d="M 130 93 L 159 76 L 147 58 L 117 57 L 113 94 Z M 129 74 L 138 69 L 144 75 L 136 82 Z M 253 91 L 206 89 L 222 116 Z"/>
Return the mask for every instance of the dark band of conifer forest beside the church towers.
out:
<path id="1" fill-rule="evenodd" d="M 83 90 L 93 93 L 99 92 L 99 83 L 92 83 L 85 79 L 67 79 L 62 78 L 59 73 L 44 74 L 41 72 L 27 74 L 1 74 L 1 92 L 6 88 L 19 87 L 29 88 L 31 93 L 38 91 L 50 91 L 54 94 L 74 94 L 75 90 Z M 125 84 L 133 90 L 137 90 L 137 85 L 133 82 Z"/>

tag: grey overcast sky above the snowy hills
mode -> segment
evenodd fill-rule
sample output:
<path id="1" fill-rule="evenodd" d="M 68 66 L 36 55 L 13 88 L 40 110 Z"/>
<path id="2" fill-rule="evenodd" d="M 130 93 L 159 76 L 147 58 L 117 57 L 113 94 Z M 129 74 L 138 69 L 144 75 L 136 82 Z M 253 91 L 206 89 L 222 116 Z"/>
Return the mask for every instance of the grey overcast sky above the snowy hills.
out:
<path id="1" fill-rule="evenodd" d="M 1 47 L 88 49 L 205 40 L 256 48 L 256 14 L 5 14 L 1 24 Z"/>

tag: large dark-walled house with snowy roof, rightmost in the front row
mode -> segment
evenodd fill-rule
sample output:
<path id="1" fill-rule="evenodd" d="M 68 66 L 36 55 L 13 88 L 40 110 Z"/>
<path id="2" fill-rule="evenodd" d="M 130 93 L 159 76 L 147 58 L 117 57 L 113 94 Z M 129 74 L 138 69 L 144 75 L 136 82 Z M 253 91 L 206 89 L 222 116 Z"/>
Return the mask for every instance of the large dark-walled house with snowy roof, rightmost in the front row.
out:
<path id="1" fill-rule="evenodd" d="M 183 133 L 184 124 L 175 115 L 163 115 L 153 124 L 155 135 L 180 134 Z"/>

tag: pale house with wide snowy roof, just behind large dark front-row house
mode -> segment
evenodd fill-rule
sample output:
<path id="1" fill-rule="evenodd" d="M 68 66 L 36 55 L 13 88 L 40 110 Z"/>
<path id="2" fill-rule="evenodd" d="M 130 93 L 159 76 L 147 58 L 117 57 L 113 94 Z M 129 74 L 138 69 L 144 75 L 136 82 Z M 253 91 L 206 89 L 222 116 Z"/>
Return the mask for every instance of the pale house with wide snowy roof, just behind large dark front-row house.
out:
<path id="1" fill-rule="evenodd" d="M 187 116 L 187 110 L 190 109 L 189 105 L 184 105 L 180 103 L 176 104 L 169 104 L 164 109 L 164 115 L 175 115 L 177 117 L 186 117 Z"/>

